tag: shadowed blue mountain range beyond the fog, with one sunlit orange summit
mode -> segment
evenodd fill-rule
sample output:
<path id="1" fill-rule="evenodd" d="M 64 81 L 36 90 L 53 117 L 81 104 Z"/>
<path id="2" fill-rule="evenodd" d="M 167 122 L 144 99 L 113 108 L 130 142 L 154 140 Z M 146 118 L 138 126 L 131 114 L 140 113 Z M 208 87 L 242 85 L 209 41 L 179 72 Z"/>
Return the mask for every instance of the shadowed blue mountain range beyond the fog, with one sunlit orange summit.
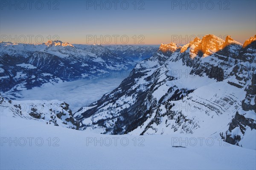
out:
<path id="1" fill-rule="evenodd" d="M 61 41 L 42 44 L 0 43 L 1 92 L 15 92 L 61 81 L 93 79 L 132 69 L 149 58 L 151 46 L 72 45 Z M 135 62 L 136 61 L 136 62 Z"/>

